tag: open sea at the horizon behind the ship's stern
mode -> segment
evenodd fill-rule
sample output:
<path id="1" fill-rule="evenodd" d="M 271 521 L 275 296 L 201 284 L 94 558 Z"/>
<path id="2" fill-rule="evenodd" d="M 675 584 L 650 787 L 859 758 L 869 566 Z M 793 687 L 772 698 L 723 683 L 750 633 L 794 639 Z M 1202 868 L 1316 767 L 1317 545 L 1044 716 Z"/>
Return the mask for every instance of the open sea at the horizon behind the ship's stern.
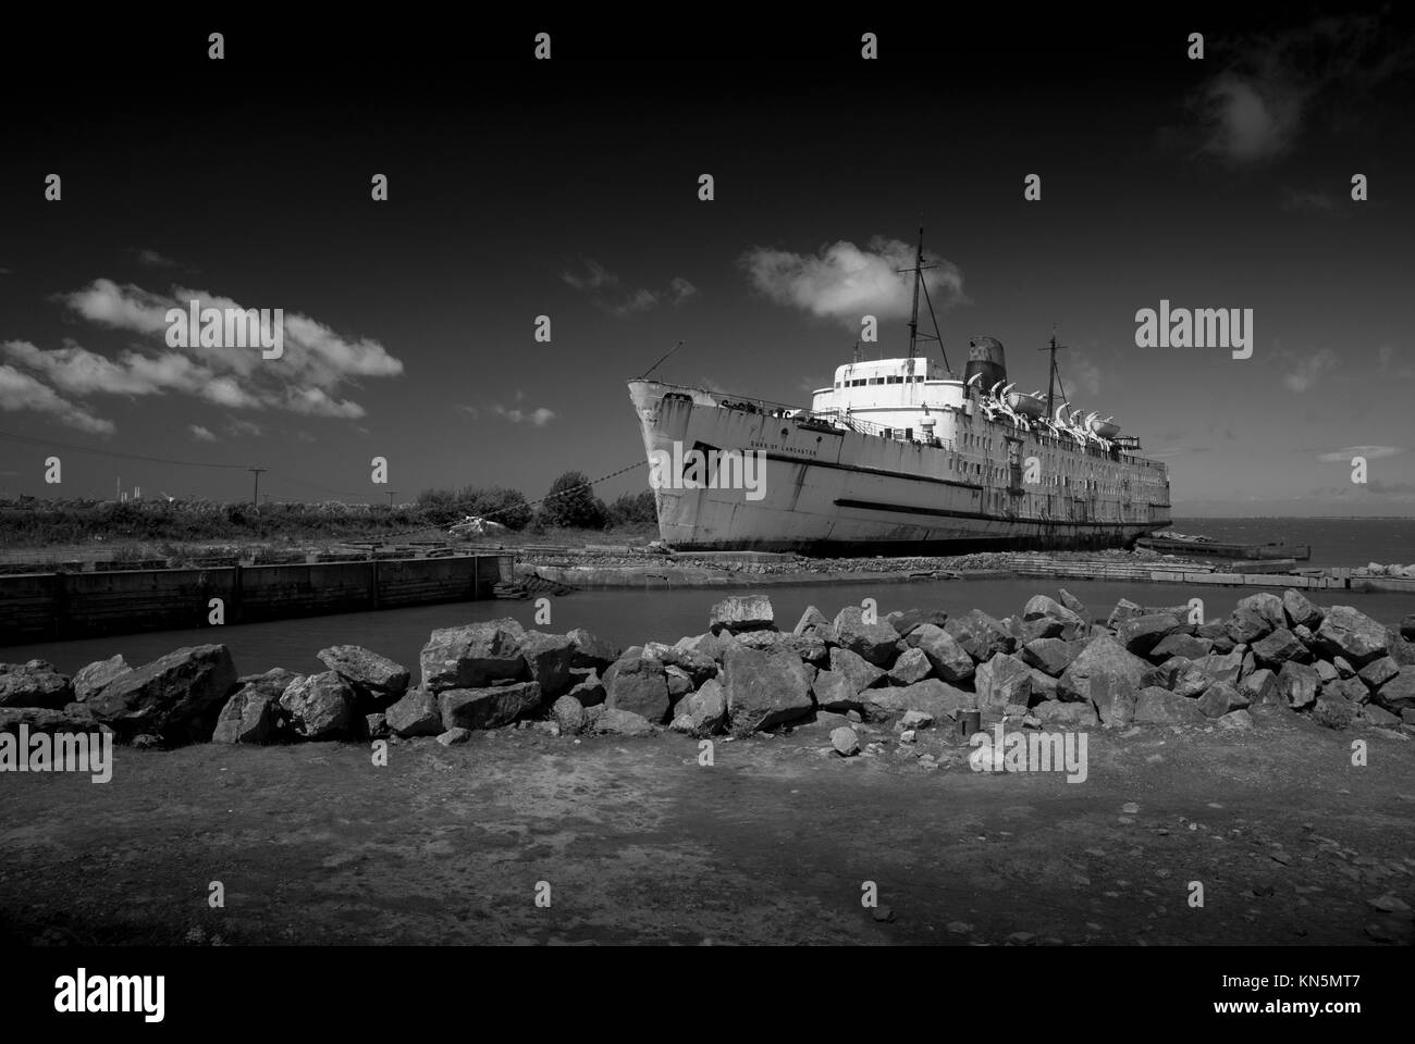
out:
<path id="1" fill-rule="evenodd" d="M 1415 564 L 1415 518 L 1176 518 L 1180 533 L 1312 545 L 1310 566 Z"/>

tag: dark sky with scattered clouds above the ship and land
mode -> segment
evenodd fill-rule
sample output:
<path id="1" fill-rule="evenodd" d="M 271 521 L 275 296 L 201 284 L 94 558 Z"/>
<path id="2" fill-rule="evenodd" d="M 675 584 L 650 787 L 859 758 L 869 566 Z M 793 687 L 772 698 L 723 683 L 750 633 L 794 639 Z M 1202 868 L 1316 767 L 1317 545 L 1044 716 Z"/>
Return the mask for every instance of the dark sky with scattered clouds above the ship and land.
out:
<path id="1" fill-rule="evenodd" d="M 647 489 L 630 378 L 682 341 L 655 376 L 809 405 L 862 314 L 867 355 L 904 354 L 923 221 L 948 359 L 992 335 L 1044 388 L 1056 327 L 1070 398 L 1169 464 L 1176 518 L 1412 515 L 1395 11 L 974 14 L 927 40 L 246 23 L 221 61 L 207 27 L 11 40 L 0 58 L 65 72 L 3 103 L 0 495 L 241 499 L 248 465 L 279 499 L 536 498 L 621 468 L 601 497 Z M 192 298 L 283 308 L 284 355 L 173 347 Z M 1162 300 L 1251 308 L 1251 358 L 1138 347 Z"/>

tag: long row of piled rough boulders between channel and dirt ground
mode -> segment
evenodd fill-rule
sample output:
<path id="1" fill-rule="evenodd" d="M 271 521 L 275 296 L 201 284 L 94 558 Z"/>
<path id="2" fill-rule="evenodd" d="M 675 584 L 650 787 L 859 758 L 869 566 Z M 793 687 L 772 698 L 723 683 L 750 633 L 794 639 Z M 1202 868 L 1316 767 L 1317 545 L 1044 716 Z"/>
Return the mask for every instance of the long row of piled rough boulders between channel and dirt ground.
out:
<path id="1" fill-rule="evenodd" d="M 328 668 L 238 676 L 224 645 L 129 666 L 99 661 L 72 678 L 30 661 L 0 665 L 0 730 L 102 729 L 134 746 L 317 740 L 460 743 L 507 726 L 550 736 L 662 730 L 706 737 L 893 721 L 903 743 L 961 710 L 985 724 L 1088 729 L 1193 724 L 1247 730 L 1262 704 L 1329 729 L 1415 734 L 1415 618 L 1387 628 L 1346 605 L 1288 590 L 1238 603 L 1224 620 L 1121 601 L 1092 617 L 1077 598 L 1037 594 L 998 620 L 979 610 L 876 617 L 808 608 L 777 625 L 764 596 L 730 597 L 709 628 L 672 645 L 620 649 L 586 630 L 528 631 L 492 620 L 434 631 L 420 679 L 368 649 L 318 654 Z"/>

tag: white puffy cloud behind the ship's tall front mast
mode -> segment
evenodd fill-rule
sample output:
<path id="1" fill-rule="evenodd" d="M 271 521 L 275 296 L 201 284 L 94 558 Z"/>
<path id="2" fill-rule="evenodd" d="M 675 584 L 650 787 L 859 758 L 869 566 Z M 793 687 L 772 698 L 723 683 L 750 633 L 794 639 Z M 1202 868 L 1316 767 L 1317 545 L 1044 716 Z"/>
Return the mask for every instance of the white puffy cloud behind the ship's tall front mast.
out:
<path id="1" fill-rule="evenodd" d="M 740 259 L 751 286 L 777 304 L 859 328 L 863 315 L 904 318 L 913 306 L 914 246 L 876 236 L 867 249 L 841 240 L 815 255 L 758 246 Z M 937 267 L 924 272 L 934 307 L 964 300 L 962 273 L 942 257 L 925 253 Z"/>

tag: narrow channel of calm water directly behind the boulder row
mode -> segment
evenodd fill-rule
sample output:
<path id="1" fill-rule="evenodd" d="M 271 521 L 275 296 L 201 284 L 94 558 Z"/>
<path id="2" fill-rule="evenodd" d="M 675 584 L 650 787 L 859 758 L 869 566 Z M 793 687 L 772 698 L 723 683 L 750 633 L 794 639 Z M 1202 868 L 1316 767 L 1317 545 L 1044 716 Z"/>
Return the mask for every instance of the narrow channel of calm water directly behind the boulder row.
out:
<path id="1" fill-rule="evenodd" d="M 1182 530 L 1183 532 L 1183 530 Z M 1104 615 L 1121 598 L 1142 605 L 1179 604 L 1197 594 L 1204 598 L 1206 617 L 1227 614 L 1242 588 L 1191 591 L 1180 584 L 1128 584 L 1064 581 L 1067 590 L 1081 598 L 1092 615 Z M 740 593 L 746 593 L 744 588 Z M 860 598 L 872 597 L 880 613 L 904 608 L 945 608 L 964 613 L 982 608 L 996 617 L 1019 613 L 1033 594 L 1054 594 L 1056 587 L 1046 580 L 930 580 L 924 583 L 850 583 L 757 588 L 770 596 L 777 625 L 790 630 L 807 605 L 818 605 L 826 615 Z M 674 642 L 683 635 L 702 634 L 713 603 L 729 594 L 726 588 L 678 591 L 577 591 L 555 598 L 552 622 L 543 631 L 565 632 L 586 627 L 618 642 L 637 645 L 648 639 Z M 1356 605 L 1363 613 L 1387 625 L 1415 613 L 1412 594 L 1358 594 L 1356 591 L 1323 593 L 1323 604 Z M 183 645 L 222 641 L 236 661 L 241 673 L 256 673 L 273 666 L 291 671 L 323 671 L 316 654 L 328 645 L 364 645 L 399 663 L 415 669 L 417 654 L 427 635 L 437 627 L 454 627 L 495 617 L 515 617 L 525 627 L 535 627 L 533 601 L 473 601 L 450 605 L 422 605 L 385 613 L 348 613 L 313 620 L 283 620 L 269 624 L 246 624 L 194 631 L 163 631 L 157 634 L 117 635 L 74 642 L 3 646 L 0 658 L 23 662 L 33 656 L 54 662 L 59 671 L 72 673 L 95 659 L 122 652 L 129 663 L 144 663 Z"/>

